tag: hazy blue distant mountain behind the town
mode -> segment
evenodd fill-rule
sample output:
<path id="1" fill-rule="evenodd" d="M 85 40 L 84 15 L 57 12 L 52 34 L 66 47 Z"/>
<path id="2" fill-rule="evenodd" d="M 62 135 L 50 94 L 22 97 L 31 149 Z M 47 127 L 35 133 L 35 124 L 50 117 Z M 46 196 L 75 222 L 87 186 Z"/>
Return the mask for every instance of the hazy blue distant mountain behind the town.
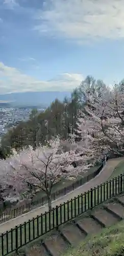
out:
<path id="1" fill-rule="evenodd" d="M 70 92 L 23 92 L 1 94 L 0 101 L 8 101 L 13 106 L 41 105 L 48 106 L 58 98 L 63 101 L 64 97 L 70 97 Z"/>

